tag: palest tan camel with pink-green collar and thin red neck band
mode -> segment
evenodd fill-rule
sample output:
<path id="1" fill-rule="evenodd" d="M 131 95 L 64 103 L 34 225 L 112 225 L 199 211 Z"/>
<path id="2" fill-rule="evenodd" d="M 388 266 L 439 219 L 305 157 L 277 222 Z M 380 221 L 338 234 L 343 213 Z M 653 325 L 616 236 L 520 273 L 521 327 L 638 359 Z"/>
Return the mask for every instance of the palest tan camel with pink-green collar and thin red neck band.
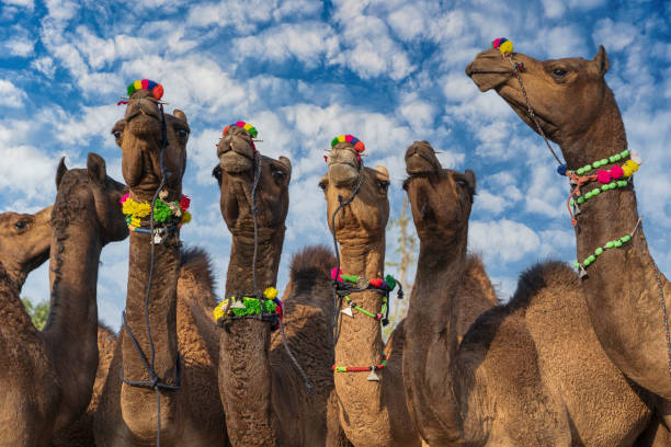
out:
<path id="1" fill-rule="evenodd" d="M 351 197 L 356 184 L 361 184 L 359 193 L 340 209 L 332 226 L 331 216 L 340 199 Z M 328 173 L 319 186 L 326 195 L 329 228 L 340 242 L 342 272 L 368 280 L 384 277 L 385 228 L 389 217 L 387 170 L 362 168 L 354 146 L 342 141 L 331 149 Z M 353 293 L 350 298 L 368 312 L 382 309 L 383 294 L 378 291 Z M 364 313 L 354 311 L 353 318 L 339 313 L 338 326 L 336 366 L 380 365 L 383 351 L 389 355 L 386 367 L 375 371 L 379 381 L 366 380 L 367 373 L 334 375 L 340 424 L 348 439 L 357 447 L 420 445 L 402 390 L 402 324 L 386 347 L 380 322 Z"/>

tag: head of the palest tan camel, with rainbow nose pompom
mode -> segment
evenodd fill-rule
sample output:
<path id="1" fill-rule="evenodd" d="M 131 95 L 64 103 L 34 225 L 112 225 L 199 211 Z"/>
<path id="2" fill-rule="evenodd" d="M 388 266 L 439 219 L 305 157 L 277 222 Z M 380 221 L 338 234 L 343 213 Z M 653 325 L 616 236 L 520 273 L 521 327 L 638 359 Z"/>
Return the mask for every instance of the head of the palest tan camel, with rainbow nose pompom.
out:
<path id="1" fill-rule="evenodd" d="M 350 137 L 350 136 L 342 136 Z M 360 145 L 359 148 L 355 145 Z M 327 200 L 327 217 L 329 229 L 336 233 L 341 243 L 383 240 L 387 220 L 389 219 L 389 173 L 384 167 L 375 169 L 362 165 L 360 153 L 365 149 L 363 142 L 356 140 L 336 141 L 327 158 L 328 172 L 319 181 Z M 353 194 L 356 185 L 360 191 L 349 205 L 336 216 L 334 228 L 331 218 L 341 200 Z"/>

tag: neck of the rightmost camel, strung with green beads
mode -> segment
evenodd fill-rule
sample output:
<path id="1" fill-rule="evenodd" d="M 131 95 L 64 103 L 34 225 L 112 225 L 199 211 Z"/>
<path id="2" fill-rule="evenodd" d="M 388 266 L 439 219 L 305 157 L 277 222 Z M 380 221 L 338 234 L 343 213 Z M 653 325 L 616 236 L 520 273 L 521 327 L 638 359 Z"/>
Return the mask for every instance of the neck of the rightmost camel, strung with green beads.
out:
<path id="1" fill-rule="evenodd" d="M 612 93 L 607 93 L 603 116 L 580 138 L 561 146 L 569 169 L 627 149 L 619 111 Z M 639 173 L 645 169 L 642 165 Z M 594 182 L 582 191 L 599 186 Z M 639 218 L 634 185 L 606 191 L 585 200 L 580 210 L 576 241 L 581 263 L 609 241 L 629 234 Z M 669 399 L 668 346 L 655 271 L 641 224 L 629 242 L 606 250 L 589 265 L 582 287 L 594 330 L 609 357 L 628 378 Z M 667 286 L 669 307 L 671 290 L 663 276 L 661 282 Z M 641 348 L 644 345 L 646 348 Z"/>

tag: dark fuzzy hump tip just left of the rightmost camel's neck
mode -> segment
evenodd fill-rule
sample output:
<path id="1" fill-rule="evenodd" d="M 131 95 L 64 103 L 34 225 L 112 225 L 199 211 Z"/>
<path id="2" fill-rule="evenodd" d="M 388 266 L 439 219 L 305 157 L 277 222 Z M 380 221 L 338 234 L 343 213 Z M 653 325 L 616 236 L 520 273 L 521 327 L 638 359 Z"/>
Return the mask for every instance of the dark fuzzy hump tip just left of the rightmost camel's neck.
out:
<path id="1" fill-rule="evenodd" d="M 565 262 L 550 260 L 537 263 L 520 275 L 511 305 L 527 306 L 533 297 L 545 289 L 556 293 L 560 299 L 564 291 L 578 285 L 578 280 L 576 272 Z"/>

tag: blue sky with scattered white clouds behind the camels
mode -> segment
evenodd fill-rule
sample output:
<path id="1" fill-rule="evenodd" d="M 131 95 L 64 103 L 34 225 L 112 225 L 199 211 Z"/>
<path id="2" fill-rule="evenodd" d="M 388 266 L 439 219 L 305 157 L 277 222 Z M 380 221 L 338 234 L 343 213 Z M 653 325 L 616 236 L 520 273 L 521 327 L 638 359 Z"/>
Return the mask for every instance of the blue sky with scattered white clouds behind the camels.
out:
<path id="1" fill-rule="evenodd" d="M 2 1 L 0 210 L 50 204 L 61 156 L 83 167 L 98 152 L 123 180 L 110 135 L 124 113 L 116 102 L 129 82 L 149 78 L 163 84 L 169 110 L 189 117 L 184 192 L 194 221 L 182 238 L 211 253 L 219 284 L 230 234 L 209 173 L 221 129 L 242 119 L 259 129 L 263 153 L 294 167 L 281 286 L 293 252 L 329 243 L 317 182 L 323 149 L 344 133 L 365 142 L 368 165 L 388 168 L 393 215 L 412 141 L 429 140 L 447 168 L 476 172 L 469 244 L 507 299 L 535 261 L 575 259 L 568 186 L 541 137 L 464 68 L 500 36 L 539 59 L 592 58 L 603 44 L 629 148 L 644 159 L 636 190 L 650 250 L 670 273 L 670 18 L 663 1 Z M 396 237 L 388 234 L 389 261 Z M 115 328 L 127 251 L 127 241 L 115 243 L 102 256 L 99 312 Z M 48 297 L 46 266 L 23 295 Z"/>

